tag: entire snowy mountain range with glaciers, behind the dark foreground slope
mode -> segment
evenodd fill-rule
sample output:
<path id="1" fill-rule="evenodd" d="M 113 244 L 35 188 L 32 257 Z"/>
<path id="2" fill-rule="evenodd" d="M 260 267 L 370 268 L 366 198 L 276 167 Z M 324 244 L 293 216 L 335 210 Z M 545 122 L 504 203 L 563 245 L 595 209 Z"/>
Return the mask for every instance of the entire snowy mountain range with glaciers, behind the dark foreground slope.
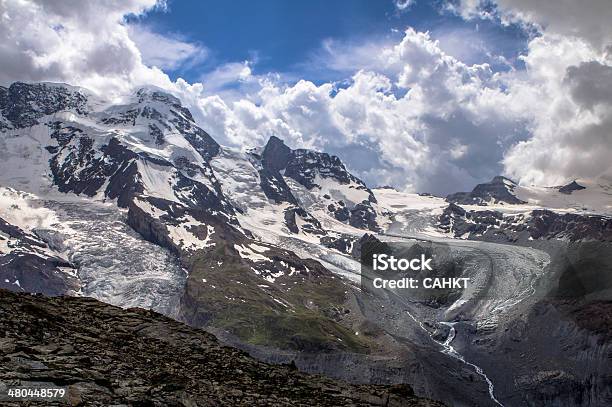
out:
<path id="1" fill-rule="evenodd" d="M 18 82 L 0 113 L 0 288 L 152 309 L 268 362 L 451 405 L 612 402 L 596 363 L 610 325 L 584 320 L 612 315 L 612 181 L 371 189 L 274 136 L 221 146 L 154 87 L 118 103 Z M 362 248 L 398 240 L 476 289 L 363 292 Z"/>

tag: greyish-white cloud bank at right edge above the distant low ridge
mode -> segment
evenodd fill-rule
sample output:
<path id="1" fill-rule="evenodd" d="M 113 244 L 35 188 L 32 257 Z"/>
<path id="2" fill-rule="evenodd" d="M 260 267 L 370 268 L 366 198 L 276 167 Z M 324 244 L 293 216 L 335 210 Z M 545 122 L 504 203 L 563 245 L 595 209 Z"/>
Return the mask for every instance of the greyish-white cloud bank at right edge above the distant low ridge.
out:
<path id="1" fill-rule="evenodd" d="M 530 106 L 529 140 L 504 158 L 524 183 L 557 185 L 612 174 L 612 66 L 588 42 L 544 35 L 525 57 L 530 77 L 510 91 Z"/>

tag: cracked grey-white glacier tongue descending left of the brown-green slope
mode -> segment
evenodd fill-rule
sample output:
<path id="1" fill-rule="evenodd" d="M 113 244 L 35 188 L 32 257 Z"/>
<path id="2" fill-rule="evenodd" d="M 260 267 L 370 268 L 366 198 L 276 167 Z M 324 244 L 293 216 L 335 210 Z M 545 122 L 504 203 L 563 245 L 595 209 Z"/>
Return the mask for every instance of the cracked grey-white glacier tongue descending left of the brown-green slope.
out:
<path id="1" fill-rule="evenodd" d="M 168 250 L 133 231 L 123 210 L 94 201 L 44 204 L 55 211 L 58 228 L 36 232 L 78 267 L 84 296 L 177 316 L 186 271 Z"/>

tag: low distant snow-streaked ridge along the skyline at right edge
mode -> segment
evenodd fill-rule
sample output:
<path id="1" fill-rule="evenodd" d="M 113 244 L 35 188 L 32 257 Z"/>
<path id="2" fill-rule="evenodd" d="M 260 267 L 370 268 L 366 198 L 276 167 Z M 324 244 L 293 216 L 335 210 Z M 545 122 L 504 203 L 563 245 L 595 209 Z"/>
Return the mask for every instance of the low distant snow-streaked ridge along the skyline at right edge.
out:
<path id="1" fill-rule="evenodd" d="M 497 176 L 472 192 L 447 196 L 450 205 L 440 215 L 439 229 L 464 239 L 612 240 L 610 182 L 580 182 L 521 186 Z"/>

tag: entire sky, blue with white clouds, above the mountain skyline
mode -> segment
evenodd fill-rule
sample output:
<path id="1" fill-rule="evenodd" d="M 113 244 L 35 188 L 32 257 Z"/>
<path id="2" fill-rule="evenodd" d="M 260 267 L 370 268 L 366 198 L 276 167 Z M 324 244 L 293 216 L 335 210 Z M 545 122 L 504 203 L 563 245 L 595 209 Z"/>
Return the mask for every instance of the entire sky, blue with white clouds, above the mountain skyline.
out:
<path id="1" fill-rule="evenodd" d="M 222 145 L 338 155 L 370 186 L 612 184 L 608 0 L 0 0 L 0 84 L 154 85 Z"/>

